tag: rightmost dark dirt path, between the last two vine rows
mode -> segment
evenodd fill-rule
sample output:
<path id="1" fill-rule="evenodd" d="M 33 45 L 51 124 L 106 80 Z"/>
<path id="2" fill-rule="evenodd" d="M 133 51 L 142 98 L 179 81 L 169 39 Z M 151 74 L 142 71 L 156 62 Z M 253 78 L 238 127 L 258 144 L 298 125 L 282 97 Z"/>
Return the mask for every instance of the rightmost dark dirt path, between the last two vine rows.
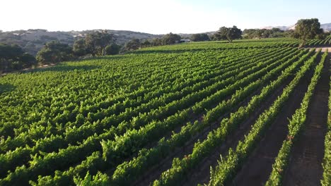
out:
<path id="1" fill-rule="evenodd" d="M 308 107 L 303 132 L 291 151 L 289 167 L 284 176 L 284 185 L 320 185 L 323 174 L 321 163 L 327 130 L 329 69 L 330 61 L 327 61 Z"/>

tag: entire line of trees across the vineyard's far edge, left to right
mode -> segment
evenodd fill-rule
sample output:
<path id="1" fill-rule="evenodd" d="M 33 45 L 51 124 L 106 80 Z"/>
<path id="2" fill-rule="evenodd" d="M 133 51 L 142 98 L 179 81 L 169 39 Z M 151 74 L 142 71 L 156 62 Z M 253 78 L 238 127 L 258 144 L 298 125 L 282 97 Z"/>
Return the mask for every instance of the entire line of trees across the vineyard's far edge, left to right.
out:
<path id="1" fill-rule="evenodd" d="M 269 37 L 294 37 L 301 39 L 300 47 L 303 47 L 308 39 L 324 39 L 328 32 L 323 32 L 318 19 L 302 19 L 296 23 L 295 30 L 283 31 L 279 28 L 267 29 L 245 29 L 240 30 L 236 25 L 233 27 L 220 27 L 213 35 L 199 33 L 192 35 L 189 39 L 193 42 L 220 41 L 233 42 L 234 39 L 260 39 Z M 132 39 L 123 46 L 116 44 L 112 34 L 103 32 L 88 33 L 85 37 L 77 37 L 73 46 L 52 41 L 37 52 L 34 57 L 25 53 L 18 45 L 0 44 L 0 73 L 12 70 L 31 68 L 37 64 L 45 65 L 74 60 L 86 56 L 104 56 L 125 53 L 149 46 L 161 46 L 180 42 L 180 35 L 170 32 L 161 38 Z"/>

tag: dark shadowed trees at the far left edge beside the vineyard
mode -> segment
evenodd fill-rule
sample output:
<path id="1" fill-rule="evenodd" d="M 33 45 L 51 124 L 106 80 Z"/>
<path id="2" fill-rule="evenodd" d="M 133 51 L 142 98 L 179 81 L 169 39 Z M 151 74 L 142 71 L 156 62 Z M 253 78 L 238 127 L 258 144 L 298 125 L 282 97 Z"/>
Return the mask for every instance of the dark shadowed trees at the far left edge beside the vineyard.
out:
<path id="1" fill-rule="evenodd" d="M 0 74 L 30 68 L 36 64 L 35 57 L 25 53 L 20 46 L 0 44 Z"/>

